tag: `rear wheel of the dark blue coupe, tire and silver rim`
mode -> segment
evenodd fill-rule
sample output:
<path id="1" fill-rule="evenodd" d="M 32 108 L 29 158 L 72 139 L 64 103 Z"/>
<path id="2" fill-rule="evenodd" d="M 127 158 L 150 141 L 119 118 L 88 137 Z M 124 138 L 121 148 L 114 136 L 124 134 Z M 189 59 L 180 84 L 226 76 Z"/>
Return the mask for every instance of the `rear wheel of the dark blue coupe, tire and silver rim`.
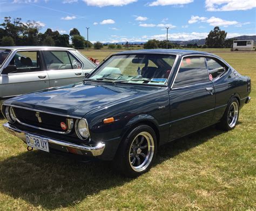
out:
<path id="1" fill-rule="evenodd" d="M 232 98 L 227 104 L 227 108 L 220 122 L 217 124 L 217 128 L 224 131 L 233 130 L 235 125 L 237 125 L 238 117 L 239 102 L 236 98 Z"/>

